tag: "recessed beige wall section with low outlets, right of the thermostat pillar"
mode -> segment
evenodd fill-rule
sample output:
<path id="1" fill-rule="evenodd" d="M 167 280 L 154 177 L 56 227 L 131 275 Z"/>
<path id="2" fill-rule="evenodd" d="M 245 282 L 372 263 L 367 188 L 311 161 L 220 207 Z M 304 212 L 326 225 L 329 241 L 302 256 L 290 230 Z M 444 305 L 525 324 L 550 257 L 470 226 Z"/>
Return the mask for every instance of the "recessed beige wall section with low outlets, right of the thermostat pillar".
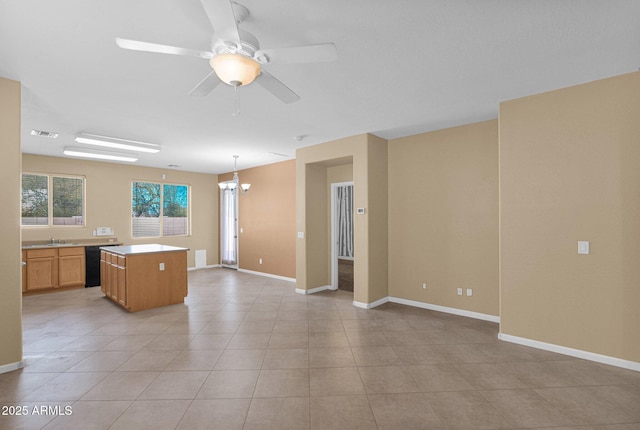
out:
<path id="1" fill-rule="evenodd" d="M 498 315 L 496 120 L 389 141 L 389 294 Z"/>

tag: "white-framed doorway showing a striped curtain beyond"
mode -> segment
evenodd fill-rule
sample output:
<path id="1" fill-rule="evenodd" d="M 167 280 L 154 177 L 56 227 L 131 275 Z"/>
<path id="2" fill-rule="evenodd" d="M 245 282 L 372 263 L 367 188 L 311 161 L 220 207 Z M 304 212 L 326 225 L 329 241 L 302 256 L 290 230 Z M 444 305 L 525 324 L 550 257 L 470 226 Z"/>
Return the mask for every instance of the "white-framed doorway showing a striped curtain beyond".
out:
<path id="1" fill-rule="evenodd" d="M 331 288 L 353 291 L 353 182 L 331 184 Z"/>

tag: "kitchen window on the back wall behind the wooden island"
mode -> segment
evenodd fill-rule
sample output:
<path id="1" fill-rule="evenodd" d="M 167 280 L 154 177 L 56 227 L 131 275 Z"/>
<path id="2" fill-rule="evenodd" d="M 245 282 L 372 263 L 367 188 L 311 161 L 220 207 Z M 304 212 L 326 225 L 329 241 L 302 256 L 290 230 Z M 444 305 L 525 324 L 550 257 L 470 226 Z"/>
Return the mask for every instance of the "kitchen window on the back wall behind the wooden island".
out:
<path id="1" fill-rule="evenodd" d="M 131 196 L 133 237 L 189 234 L 189 187 L 187 185 L 133 182 Z"/>

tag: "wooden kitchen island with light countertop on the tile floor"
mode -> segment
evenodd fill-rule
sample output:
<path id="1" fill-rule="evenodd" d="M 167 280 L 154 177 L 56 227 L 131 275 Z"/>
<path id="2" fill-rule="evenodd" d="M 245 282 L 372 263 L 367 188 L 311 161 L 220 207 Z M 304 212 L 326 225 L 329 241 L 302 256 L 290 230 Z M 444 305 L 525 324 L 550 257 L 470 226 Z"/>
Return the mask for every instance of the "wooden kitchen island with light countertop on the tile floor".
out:
<path id="1" fill-rule="evenodd" d="M 184 303 L 188 250 L 159 244 L 101 247 L 102 292 L 129 312 Z"/>

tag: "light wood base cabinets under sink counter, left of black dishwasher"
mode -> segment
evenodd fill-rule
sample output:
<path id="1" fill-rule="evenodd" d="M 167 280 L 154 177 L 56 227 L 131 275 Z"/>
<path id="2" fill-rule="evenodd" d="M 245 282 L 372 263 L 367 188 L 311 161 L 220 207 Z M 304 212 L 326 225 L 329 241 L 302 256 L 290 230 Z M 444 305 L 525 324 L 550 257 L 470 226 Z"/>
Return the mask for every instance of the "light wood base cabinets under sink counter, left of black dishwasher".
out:
<path id="1" fill-rule="evenodd" d="M 23 292 L 84 287 L 83 246 L 30 249 L 23 251 Z"/>

